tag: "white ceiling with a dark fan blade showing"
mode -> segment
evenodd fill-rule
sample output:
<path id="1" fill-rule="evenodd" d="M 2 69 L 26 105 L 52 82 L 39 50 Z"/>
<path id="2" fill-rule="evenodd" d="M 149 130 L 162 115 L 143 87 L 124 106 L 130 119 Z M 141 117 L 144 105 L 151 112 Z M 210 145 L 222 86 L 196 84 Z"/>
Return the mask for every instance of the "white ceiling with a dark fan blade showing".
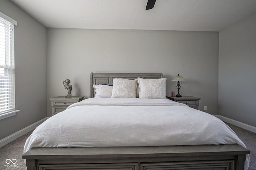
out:
<path id="1" fill-rule="evenodd" d="M 256 0 L 11 0 L 46 27 L 220 31 L 256 13 Z"/>

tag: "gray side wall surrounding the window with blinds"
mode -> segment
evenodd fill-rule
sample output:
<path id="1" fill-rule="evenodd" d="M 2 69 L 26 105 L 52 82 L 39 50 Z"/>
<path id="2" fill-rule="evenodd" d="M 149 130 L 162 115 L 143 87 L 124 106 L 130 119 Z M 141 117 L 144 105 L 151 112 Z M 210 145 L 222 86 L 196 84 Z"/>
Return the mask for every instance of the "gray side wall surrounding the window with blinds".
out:
<path id="1" fill-rule="evenodd" d="M 0 139 L 46 117 L 46 28 L 10 0 L 0 11 L 15 26 L 15 116 L 0 120 Z"/>

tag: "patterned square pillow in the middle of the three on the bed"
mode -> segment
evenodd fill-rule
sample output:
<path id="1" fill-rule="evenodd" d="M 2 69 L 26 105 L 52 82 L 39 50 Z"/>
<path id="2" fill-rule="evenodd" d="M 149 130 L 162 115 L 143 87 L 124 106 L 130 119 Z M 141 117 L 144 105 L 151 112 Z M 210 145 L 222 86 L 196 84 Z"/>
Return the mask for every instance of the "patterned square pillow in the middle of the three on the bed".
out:
<path id="1" fill-rule="evenodd" d="M 138 80 L 114 78 L 111 98 L 136 98 L 137 84 Z"/>

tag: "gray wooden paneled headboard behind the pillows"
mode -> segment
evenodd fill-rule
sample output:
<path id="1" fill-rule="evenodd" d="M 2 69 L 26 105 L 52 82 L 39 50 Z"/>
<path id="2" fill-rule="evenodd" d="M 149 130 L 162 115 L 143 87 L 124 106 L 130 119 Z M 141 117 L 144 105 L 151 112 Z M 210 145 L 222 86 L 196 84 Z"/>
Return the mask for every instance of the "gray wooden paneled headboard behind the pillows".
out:
<path id="1" fill-rule="evenodd" d="M 93 84 L 113 83 L 114 78 L 137 79 L 141 78 L 163 78 L 163 73 L 95 73 L 90 76 L 90 98 L 94 98 L 95 89 Z"/>

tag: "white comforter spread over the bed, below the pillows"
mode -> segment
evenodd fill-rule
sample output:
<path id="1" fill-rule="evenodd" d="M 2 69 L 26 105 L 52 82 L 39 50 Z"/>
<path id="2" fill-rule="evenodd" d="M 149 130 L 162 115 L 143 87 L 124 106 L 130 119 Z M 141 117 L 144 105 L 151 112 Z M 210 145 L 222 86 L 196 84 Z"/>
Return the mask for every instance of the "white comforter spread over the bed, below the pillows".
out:
<path id="1" fill-rule="evenodd" d="M 72 104 L 28 137 L 33 147 L 121 147 L 239 144 L 220 119 L 168 99 L 90 98 Z M 246 156 L 245 169 L 249 165 Z"/>

